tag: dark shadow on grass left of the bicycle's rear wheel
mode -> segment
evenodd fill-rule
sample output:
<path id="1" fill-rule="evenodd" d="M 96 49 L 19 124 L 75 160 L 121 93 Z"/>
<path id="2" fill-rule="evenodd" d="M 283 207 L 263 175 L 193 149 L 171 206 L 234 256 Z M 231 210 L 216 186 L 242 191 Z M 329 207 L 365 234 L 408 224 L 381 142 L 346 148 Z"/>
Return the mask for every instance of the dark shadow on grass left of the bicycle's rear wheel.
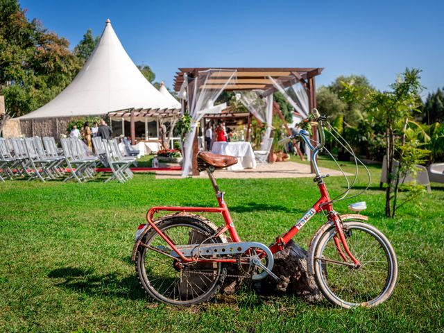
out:
<path id="1" fill-rule="evenodd" d="M 135 275 L 122 278 L 117 273 L 98 274 L 92 268 L 65 267 L 49 272 L 49 278 L 62 280 L 55 285 L 89 296 L 149 300 Z"/>

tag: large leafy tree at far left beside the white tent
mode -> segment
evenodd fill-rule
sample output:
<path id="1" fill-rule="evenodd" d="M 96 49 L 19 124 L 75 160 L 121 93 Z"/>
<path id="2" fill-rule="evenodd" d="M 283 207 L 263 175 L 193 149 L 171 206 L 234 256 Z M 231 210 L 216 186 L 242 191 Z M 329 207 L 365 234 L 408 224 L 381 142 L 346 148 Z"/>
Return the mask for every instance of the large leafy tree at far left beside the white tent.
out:
<path id="1" fill-rule="evenodd" d="M 0 94 L 19 116 L 51 101 L 81 64 L 65 38 L 28 22 L 17 0 L 0 1 L 0 22 Z"/>

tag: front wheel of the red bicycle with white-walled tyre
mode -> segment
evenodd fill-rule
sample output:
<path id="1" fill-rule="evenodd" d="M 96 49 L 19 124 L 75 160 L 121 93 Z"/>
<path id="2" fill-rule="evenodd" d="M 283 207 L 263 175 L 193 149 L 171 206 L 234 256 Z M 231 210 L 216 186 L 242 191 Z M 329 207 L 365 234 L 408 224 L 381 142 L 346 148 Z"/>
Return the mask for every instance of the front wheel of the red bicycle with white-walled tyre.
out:
<path id="1" fill-rule="evenodd" d="M 337 232 L 333 225 L 315 245 L 316 284 L 325 298 L 335 305 L 375 307 L 395 288 L 398 278 L 395 251 L 384 234 L 372 225 L 346 221 L 343 231 L 350 252 L 361 265 L 354 267 L 350 259 L 343 260 L 334 241 Z"/>

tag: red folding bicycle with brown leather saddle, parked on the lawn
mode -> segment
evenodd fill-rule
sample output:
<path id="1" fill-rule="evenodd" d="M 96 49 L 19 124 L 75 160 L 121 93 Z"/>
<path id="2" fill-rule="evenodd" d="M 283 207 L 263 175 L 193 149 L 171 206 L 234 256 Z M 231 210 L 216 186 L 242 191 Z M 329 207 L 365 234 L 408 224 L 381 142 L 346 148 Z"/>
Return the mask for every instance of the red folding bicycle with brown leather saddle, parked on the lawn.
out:
<path id="1" fill-rule="evenodd" d="M 156 300 L 170 305 L 189 306 L 213 298 L 227 276 L 261 280 L 266 275 L 284 286 L 284 278 L 273 273 L 273 253 L 284 249 L 315 214 L 322 212 L 327 222 L 311 239 L 307 263 L 316 284 L 327 300 L 341 307 L 374 307 L 384 302 L 395 288 L 398 265 L 388 239 L 359 214 L 365 203 L 350 205 L 357 214 L 339 214 L 319 172 L 316 155 L 325 144 L 323 123 L 314 110 L 321 142 L 311 145 L 307 131 L 281 140 L 302 139 L 311 150 L 321 198 L 275 243 L 241 241 L 225 203 L 224 192 L 216 183 L 215 169 L 237 163 L 236 157 L 200 152 L 199 171 L 207 171 L 219 207 L 152 207 L 148 223 L 139 225 L 133 248 L 133 261 L 142 287 Z M 174 212 L 153 219 L 158 212 Z M 225 225 L 217 228 L 198 212 L 219 213 Z M 228 232 L 229 237 L 225 235 Z M 235 265 L 236 275 L 227 273 Z M 230 273 L 233 270 L 230 270 Z"/>

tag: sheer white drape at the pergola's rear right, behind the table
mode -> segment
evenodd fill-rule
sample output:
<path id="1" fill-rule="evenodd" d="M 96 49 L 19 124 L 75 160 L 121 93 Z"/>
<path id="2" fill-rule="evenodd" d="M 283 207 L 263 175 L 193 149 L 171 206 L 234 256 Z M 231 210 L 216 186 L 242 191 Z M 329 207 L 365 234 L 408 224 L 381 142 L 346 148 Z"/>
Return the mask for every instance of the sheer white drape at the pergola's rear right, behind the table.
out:
<path id="1" fill-rule="evenodd" d="M 259 121 L 266 124 L 264 138 L 270 137 L 273 123 L 273 94 L 262 98 L 256 90 L 238 92 L 241 103 Z"/>

